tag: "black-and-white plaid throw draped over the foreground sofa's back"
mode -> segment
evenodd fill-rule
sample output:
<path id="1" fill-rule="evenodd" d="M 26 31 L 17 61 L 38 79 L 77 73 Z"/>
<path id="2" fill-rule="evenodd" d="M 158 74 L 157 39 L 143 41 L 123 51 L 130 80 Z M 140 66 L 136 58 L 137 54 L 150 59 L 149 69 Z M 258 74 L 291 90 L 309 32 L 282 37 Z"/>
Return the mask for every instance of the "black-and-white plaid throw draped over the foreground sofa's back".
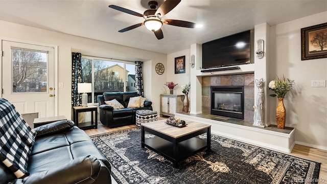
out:
<path id="1" fill-rule="evenodd" d="M 28 158 L 36 132 L 21 118 L 13 104 L 0 98 L 0 161 L 17 178 L 29 175 Z"/>

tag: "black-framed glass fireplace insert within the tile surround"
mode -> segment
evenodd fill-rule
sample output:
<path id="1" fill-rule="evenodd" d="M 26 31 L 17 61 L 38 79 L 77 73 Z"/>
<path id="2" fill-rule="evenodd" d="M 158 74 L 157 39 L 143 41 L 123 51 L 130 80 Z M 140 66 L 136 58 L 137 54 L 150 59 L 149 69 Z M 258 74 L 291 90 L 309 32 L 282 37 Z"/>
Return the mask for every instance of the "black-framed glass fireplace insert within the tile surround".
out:
<path id="1" fill-rule="evenodd" d="M 244 86 L 211 86 L 211 114 L 244 120 Z"/>

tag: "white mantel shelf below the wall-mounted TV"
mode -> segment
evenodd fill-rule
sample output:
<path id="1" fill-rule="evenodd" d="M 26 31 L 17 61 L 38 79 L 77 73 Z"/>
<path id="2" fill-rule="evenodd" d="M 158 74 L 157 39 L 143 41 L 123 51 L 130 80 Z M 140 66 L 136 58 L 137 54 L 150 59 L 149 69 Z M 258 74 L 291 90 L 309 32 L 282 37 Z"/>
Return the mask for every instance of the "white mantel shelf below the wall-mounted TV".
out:
<path id="1" fill-rule="evenodd" d="M 219 75 L 230 75 L 230 74 L 248 74 L 254 73 L 254 63 L 251 64 L 242 64 L 236 65 L 239 66 L 238 70 L 225 70 L 225 71 L 216 71 L 216 72 L 201 72 L 201 70 L 196 70 L 196 76 L 219 76 Z"/>

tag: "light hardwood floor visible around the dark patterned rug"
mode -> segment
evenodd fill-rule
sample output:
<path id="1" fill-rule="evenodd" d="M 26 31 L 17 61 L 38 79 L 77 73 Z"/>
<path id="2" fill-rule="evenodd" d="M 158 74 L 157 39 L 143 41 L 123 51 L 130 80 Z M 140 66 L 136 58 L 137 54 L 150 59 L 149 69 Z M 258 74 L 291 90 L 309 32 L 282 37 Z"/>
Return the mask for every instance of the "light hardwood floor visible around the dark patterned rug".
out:
<path id="1" fill-rule="evenodd" d="M 160 118 L 158 120 L 160 120 Z M 98 129 L 85 130 L 85 132 L 88 135 L 98 135 L 102 133 L 113 132 L 117 130 L 132 128 L 132 127 L 136 127 L 136 126 L 129 125 L 129 126 L 123 126 L 118 128 L 108 128 L 103 126 L 101 123 L 99 123 Z M 327 151 L 311 148 L 307 146 L 302 146 L 302 145 L 295 145 L 291 153 L 285 153 L 285 154 L 290 154 L 293 156 L 297 156 L 300 158 L 313 160 L 315 162 L 321 163 L 318 183 L 321 184 L 327 183 Z"/>

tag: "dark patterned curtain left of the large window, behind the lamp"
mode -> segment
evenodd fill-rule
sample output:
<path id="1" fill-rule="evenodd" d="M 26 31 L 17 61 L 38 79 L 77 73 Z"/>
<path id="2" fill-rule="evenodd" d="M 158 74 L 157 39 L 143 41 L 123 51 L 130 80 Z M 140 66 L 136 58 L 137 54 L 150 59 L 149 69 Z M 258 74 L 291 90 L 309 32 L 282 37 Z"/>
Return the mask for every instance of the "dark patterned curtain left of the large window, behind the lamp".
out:
<path id="1" fill-rule="evenodd" d="M 81 53 L 72 53 L 72 106 L 81 106 L 82 95 L 77 93 L 77 83 L 83 82 Z"/>

